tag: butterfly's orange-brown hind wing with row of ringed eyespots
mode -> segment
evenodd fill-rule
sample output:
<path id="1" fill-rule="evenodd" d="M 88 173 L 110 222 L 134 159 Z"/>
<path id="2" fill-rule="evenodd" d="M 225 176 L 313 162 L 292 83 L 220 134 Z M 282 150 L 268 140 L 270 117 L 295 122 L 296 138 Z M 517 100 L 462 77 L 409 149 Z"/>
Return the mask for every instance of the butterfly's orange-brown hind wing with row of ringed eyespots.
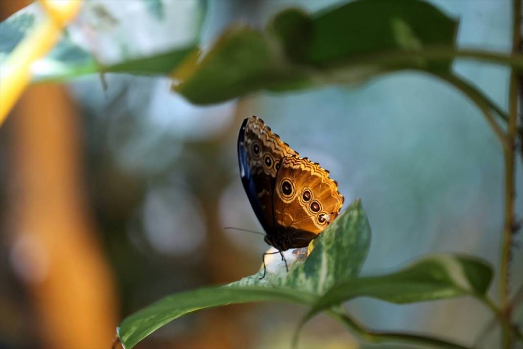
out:
<path id="1" fill-rule="evenodd" d="M 304 247 L 336 218 L 344 198 L 328 171 L 306 157 L 287 155 L 281 161 L 274 191 L 274 212 L 280 234 L 290 247 Z"/>

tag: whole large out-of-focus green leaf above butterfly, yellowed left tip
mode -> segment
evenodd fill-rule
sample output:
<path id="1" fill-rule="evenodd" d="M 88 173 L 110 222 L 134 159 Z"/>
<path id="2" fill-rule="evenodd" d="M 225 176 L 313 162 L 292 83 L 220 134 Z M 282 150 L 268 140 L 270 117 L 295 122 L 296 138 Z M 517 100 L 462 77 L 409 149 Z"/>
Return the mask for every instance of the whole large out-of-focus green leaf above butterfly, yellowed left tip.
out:
<path id="1" fill-rule="evenodd" d="M 452 48 L 458 22 L 419 0 L 357 0 L 308 15 L 287 9 L 265 31 L 227 31 L 204 54 L 173 74 L 174 91 L 211 104 L 258 91 L 361 83 L 384 72 L 448 71 L 451 60 L 428 61 L 416 52 Z M 404 57 L 384 60 L 406 52 Z"/>

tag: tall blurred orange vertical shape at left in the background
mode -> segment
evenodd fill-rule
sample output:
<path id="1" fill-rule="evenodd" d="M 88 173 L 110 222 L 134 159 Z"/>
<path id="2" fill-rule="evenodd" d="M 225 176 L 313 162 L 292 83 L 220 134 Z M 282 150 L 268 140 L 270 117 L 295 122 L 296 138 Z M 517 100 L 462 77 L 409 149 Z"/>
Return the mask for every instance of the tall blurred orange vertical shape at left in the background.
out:
<path id="1" fill-rule="evenodd" d="M 78 111 L 65 88 L 28 88 L 10 117 L 11 260 L 43 347 L 110 348 L 117 299 L 87 209 Z"/>

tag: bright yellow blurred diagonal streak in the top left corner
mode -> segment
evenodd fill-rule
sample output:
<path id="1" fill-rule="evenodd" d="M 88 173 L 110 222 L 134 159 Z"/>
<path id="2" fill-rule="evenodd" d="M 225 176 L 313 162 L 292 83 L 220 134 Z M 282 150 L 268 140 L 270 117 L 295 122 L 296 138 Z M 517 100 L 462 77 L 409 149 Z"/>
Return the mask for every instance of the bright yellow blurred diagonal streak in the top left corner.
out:
<path id="1" fill-rule="evenodd" d="M 78 13 L 82 0 L 42 0 L 48 18 L 13 50 L 0 71 L 0 125 L 31 80 L 31 63 L 58 41 L 64 25 Z"/>

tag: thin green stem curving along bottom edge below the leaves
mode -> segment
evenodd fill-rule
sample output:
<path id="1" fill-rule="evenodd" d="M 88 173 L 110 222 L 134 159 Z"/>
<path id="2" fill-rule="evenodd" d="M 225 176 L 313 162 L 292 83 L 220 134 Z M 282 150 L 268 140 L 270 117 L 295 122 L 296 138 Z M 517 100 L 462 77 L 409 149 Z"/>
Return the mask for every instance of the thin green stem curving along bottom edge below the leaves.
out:
<path id="1" fill-rule="evenodd" d="M 374 331 L 366 328 L 357 320 L 351 318 L 343 308 L 339 310 L 329 310 L 327 313 L 333 319 L 343 323 L 347 328 L 354 331 L 358 336 L 372 343 L 395 342 L 411 345 L 423 345 L 434 348 L 453 348 L 453 349 L 469 349 L 466 346 L 447 342 L 430 336 L 422 336 L 417 334 Z"/>

